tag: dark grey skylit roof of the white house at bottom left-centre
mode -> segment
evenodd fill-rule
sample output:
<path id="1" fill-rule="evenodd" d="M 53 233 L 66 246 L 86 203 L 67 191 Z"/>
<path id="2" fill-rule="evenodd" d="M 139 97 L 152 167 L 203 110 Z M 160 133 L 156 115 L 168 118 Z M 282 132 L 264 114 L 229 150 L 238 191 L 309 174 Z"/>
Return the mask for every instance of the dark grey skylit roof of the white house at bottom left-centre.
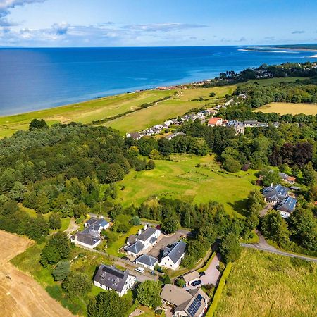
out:
<path id="1" fill-rule="evenodd" d="M 115 266 L 101 264 L 96 275 L 94 275 L 94 281 L 120 293 L 128 276 L 128 270 L 120 271 Z"/>

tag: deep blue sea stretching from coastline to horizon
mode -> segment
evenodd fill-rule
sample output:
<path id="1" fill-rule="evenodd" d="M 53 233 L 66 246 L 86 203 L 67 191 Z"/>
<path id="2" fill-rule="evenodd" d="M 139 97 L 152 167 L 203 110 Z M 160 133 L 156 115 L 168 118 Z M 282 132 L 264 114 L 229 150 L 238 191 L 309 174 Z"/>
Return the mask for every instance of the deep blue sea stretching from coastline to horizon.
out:
<path id="1" fill-rule="evenodd" d="M 268 47 L 0 49 L 0 115 L 175 85 L 263 63 L 313 61 Z M 316 59 L 315 59 L 316 60 Z"/>

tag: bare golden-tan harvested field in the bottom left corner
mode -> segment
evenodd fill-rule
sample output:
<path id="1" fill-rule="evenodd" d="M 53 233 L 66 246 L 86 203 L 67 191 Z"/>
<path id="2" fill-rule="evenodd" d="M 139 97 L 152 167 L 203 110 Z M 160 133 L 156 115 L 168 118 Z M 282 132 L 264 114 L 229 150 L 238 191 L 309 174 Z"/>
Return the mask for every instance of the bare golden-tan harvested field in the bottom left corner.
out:
<path id="1" fill-rule="evenodd" d="M 0 312 L 4 317 L 73 316 L 9 261 L 32 242 L 0 230 Z"/>

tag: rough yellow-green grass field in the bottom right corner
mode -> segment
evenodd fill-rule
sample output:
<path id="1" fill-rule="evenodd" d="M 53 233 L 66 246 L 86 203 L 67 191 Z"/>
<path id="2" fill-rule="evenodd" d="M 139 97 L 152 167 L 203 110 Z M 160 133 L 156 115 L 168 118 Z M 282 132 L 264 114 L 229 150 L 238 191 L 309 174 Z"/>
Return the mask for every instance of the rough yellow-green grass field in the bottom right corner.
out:
<path id="1" fill-rule="evenodd" d="M 316 281 L 315 263 L 244 249 L 214 316 L 316 316 Z"/>

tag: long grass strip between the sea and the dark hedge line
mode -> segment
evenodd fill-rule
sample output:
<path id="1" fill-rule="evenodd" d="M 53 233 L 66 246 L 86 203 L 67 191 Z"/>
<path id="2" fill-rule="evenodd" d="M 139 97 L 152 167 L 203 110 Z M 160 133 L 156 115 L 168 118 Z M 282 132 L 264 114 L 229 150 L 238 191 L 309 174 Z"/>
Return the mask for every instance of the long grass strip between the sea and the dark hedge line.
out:
<path id="1" fill-rule="evenodd" d="M 91 123 L 118 113 L 135 110 L 142 104 L 173 96 L 175 90 L 149 90 L 132 94 L 120 94 L 40 111 L 0 117 L 0 137 L 13 135 L 17 130 L 27 130 L 32 119 L 44 119 L 49 125 L 72 121 Z"/>

